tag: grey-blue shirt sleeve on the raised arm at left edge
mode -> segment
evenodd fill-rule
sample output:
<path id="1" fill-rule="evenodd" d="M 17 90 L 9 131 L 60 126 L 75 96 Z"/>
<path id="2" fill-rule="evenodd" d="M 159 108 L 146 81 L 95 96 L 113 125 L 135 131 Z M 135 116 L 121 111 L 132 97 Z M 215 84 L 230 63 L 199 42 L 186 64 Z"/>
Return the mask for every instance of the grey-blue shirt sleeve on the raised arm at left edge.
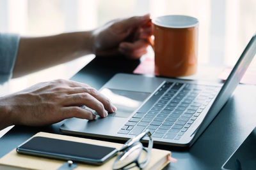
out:
<path id="1" fill-rule="evenodd" d="M 17 34 L 0 33 L 0 83 L 12 78 L 19 41 L 20 37 Z"/>

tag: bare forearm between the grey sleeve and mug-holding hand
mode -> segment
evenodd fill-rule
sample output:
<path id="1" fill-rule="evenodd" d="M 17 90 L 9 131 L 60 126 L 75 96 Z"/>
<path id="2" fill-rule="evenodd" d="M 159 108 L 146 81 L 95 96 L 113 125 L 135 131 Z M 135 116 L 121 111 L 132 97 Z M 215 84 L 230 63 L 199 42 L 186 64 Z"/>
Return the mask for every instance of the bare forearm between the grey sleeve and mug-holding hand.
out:
<path id="1" fill-rule="evenodd" d="M 92 32 L 70 32 L 40 38 L 20 38 L 13 77 L 77 59 L 93 48 Z"/>

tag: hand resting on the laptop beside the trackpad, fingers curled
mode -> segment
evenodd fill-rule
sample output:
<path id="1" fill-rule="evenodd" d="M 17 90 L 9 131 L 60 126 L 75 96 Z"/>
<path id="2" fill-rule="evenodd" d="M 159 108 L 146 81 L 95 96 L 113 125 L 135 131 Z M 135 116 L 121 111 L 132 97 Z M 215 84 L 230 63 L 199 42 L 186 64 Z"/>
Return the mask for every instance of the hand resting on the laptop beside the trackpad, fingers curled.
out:
<path id="1" fill-rule="evenodd" d="M 115 106 L 89 85 L 70 80 L 38 83 L 10 96 L 0 97 L 0 129 L 8 125 L 47 125 L 65 118 L 93 120 L 92 111 L 106 117 Z"/>

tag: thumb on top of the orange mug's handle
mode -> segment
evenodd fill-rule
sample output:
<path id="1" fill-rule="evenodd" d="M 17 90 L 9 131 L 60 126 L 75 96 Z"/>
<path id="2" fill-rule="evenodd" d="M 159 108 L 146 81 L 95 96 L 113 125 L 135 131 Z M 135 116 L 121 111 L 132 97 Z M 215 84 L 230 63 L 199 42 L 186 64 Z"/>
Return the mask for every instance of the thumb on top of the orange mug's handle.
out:
<path id="1" fill-rule="evenodd" d="M 125 20 L 122 20 L 122 25 L 124 25 L 127 29 L 133 29 L 135 27 L 144 26 L 150 22 L 150 15 L 143 15 L 143 16 L 137 16 L 137 17 L 131 17 L 127 18 Z"/>

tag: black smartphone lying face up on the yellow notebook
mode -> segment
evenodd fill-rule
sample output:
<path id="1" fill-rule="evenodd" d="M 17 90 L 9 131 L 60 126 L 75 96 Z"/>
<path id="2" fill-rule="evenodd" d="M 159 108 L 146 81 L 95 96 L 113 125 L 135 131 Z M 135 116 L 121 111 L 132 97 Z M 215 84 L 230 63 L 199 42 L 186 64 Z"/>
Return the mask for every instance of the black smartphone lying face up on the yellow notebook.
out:
<path id="1" fill-rule="evenodd" d="M 18 153 L 72 160 L 86 164 L 101 165 L 116 155 L 118 150 L 107 146 L 91 145 L 61 139 L 36 136 L 16 148 Z"/>

